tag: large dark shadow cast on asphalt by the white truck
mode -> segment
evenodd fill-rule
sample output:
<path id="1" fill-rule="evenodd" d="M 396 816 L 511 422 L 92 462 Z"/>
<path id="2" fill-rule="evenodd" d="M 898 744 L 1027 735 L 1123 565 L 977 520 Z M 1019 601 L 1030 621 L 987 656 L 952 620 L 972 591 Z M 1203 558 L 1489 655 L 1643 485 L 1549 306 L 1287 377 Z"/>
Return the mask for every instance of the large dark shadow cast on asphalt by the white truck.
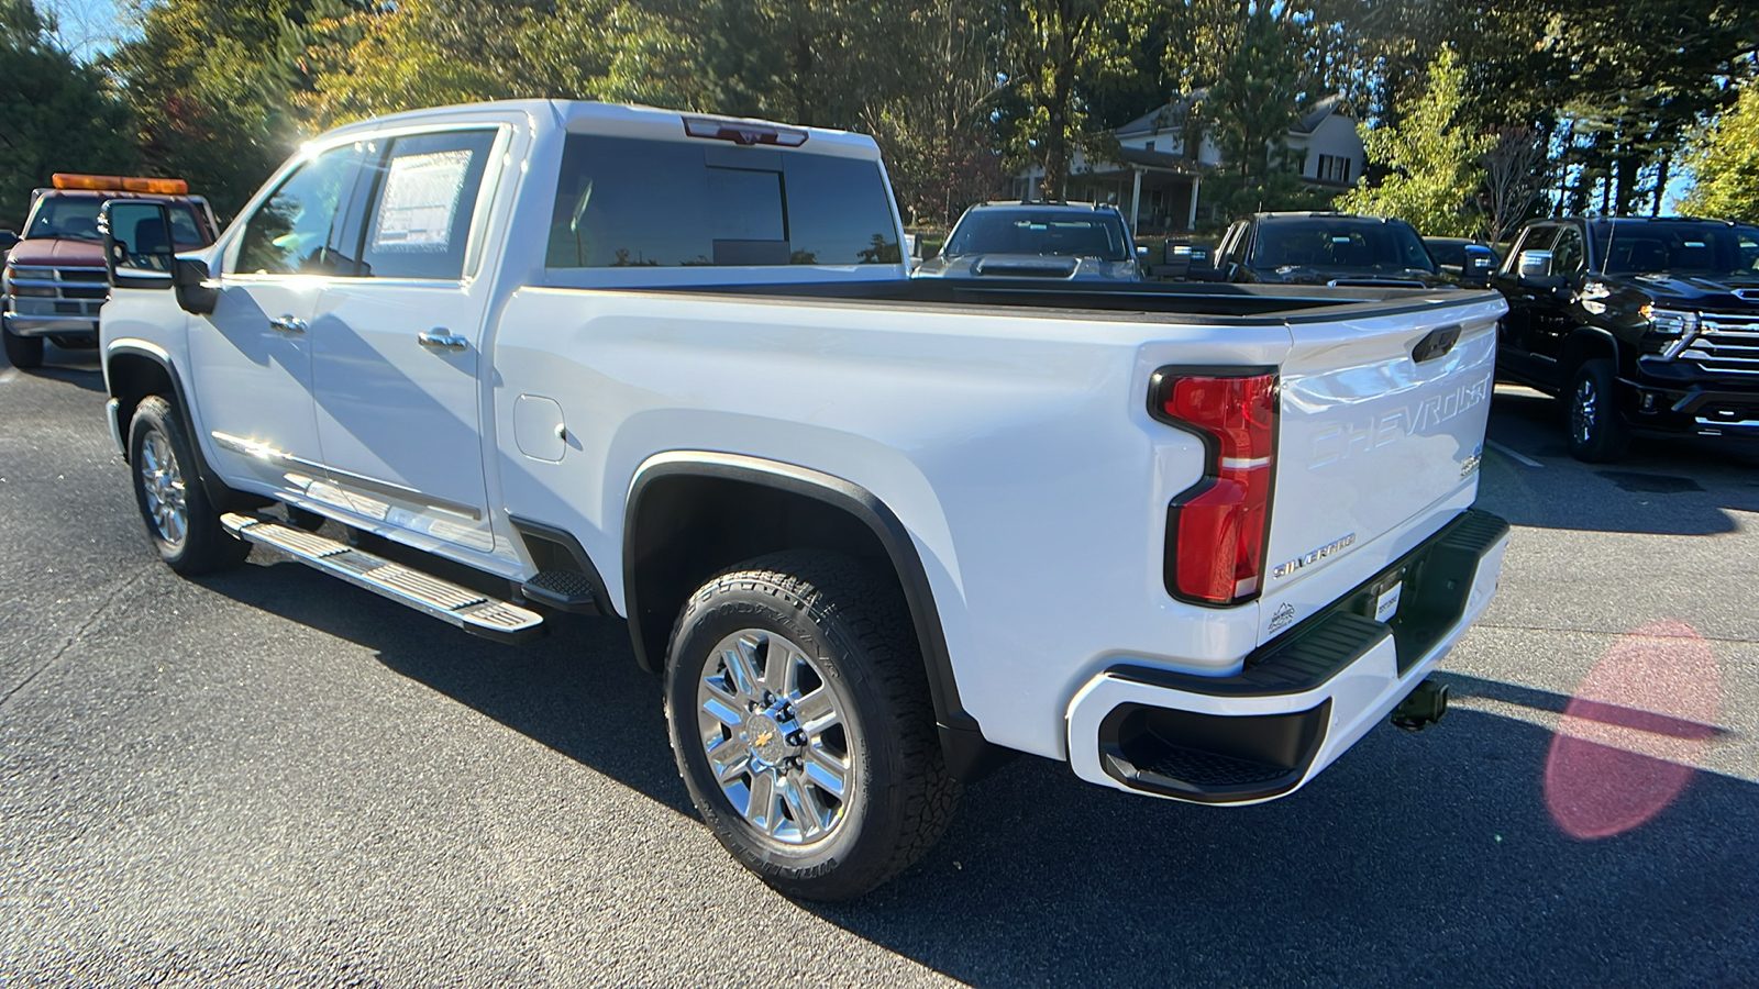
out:
<path id="1" fill-rule="evenodd" d="M 658 678 L 635 667 L 617 619 L 566 621 L 512 649 L 294 565 L 204 584 L 375 649 L 693 817 Z M 967 788 L 945 839 L 888 885 L 850 905 L 774 908 L 976 985 L 1748 980 L 1759 787 L 1696 773 L 1646 824 L 1581 841 L 1546 810 L 1551 743 L 1546 729 L 1456 709 L 1421 734 L 1379 727 L 1305 790 L 1230 810 L 1131 797 L 1020 758 Z"/>

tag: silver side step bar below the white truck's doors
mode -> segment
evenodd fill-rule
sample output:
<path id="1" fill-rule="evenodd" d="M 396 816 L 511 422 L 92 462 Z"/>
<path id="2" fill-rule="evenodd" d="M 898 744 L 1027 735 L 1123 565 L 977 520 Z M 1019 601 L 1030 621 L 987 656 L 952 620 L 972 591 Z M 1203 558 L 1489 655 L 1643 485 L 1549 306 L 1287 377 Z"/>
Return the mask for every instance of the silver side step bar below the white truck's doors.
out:
<path id="1" fill-rule="evenodd" d="M 239 512 L 220 516 L 220 524 L 245 542 L 278 549 L 306 567 L 457 625 L 473 635 L 496 642 L 526 642 L 544 634 L 544 616 L 535 611 L 478 595 L 345 542 L 271 517 Z"/>

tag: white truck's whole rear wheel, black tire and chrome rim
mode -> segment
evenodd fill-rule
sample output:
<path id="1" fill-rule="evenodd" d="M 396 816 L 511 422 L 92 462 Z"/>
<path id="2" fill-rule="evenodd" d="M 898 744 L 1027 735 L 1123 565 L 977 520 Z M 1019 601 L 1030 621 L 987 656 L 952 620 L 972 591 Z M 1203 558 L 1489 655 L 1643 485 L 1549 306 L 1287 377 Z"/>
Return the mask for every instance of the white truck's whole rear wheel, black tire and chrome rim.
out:
<path id="1" fill-rule="evenodd" d="M 841 554 L 777 553 L 704 584 L 672 632 L 665 704 L 704 822 L 788 896 L 874 889 L 959 801 L 902 595 Z"/>

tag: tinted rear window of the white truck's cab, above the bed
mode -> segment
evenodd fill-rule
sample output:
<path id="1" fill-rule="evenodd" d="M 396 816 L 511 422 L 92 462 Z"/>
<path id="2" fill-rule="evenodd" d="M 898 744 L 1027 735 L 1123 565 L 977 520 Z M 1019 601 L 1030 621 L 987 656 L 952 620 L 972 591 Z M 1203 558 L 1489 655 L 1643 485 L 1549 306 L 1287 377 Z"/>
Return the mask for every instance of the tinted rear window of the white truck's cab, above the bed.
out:
<path id="1" fill-rule="evenodd" d="M 811 151 L 575 134 L 549 267 L 899 264 L 880 164 Z"/>

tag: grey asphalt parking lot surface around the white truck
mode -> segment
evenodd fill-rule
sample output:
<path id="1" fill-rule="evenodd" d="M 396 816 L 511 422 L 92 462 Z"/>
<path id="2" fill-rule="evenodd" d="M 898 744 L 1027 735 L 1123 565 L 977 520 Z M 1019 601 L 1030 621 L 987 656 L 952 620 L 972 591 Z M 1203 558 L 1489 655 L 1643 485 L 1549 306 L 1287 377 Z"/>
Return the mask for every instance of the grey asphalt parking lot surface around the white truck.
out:
<path id="1" fill-rule="evenodd" d="M 49 359 L 0 364 L 4 985 L 1759 978 L 1755 445 L 1580 465 L 1502 389 L 1514 544 L 1442 725 L 1242 810 L 1022 758 L 825 908 L 695 822 L 621 623 L 508 649 L 260 554 L 183 581 Z"/>

